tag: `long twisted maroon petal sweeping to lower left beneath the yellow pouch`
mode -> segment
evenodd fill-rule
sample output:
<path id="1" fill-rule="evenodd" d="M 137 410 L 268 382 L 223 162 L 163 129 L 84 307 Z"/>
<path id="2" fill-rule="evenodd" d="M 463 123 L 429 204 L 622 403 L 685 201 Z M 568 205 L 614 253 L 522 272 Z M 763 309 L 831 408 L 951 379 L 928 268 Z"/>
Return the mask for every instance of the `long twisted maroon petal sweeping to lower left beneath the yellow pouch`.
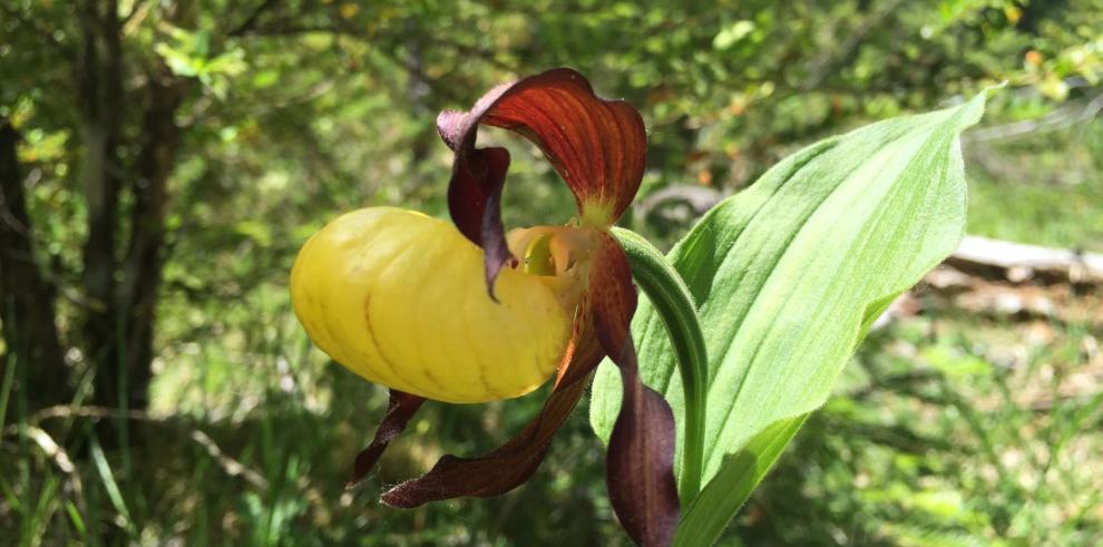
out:
<path id="1" fill-rule="evenodd" d="M 578 404 L 586 390 L 586 378 L 604 356 L 588 324 L 588 321 L 575 323 L 575 335 L 552 395 L 518 436 L 478 458 L 445 456 L 421 478 L 383 494 L 383 502 L 409 508 L 463 496 L 485 498 L 505 494 L 528 480 L 544 461 L 552 438 Z"/>

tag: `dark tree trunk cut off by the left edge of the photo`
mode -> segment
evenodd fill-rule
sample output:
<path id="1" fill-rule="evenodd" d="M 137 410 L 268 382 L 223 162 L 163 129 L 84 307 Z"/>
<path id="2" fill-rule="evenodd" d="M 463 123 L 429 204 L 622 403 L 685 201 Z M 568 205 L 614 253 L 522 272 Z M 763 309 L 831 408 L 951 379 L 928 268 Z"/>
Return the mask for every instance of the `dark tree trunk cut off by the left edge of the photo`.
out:
<path id="1" fill-rule="evenodd" d="M 3 370 L 17 367 L 10 401 L 36 410 L 69 402 L 71 391 L 55 321 L 57 291 L 35 260 L 18 141 L 16 129 L 0 120 L 0 323 Z"/>

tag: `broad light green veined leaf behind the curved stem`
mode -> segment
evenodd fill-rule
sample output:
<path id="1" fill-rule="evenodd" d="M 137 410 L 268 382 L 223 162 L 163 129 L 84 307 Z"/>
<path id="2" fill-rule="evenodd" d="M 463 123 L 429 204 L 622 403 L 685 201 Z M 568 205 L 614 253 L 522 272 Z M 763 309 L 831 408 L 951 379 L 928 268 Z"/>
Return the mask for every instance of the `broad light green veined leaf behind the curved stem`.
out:
<path id="1" fill-rule="evenodd" d="M 804 148 L 716 205 L 671 251 L 709 350 L 699 498 L 725 490 L 736 498 L 714 530 L 696 514 L 706 504 L 691 506 L 683 521 L 697 522 L 699 537 L 722 531 L 799 417 L 824 402 L 872 321 L 957 246 L 966 209 L 958 136 L 984 102 L 982 94 Z M 674 408 L 681 473 L 681 379 L 661 318 L 641 304 L 633 321 L 641 373 Z M 590 407 L 603 439 L 619 400 L 617 377 L 603 367 Z"/>

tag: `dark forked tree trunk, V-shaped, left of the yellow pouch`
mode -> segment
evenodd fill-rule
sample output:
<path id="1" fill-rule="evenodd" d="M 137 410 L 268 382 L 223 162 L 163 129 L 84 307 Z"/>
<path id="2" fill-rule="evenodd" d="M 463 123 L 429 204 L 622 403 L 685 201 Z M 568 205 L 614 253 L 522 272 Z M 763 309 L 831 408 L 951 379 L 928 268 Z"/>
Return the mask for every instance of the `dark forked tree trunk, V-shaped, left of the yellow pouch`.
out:
<path id="1" fill-rule="evenodd" d="M 76 67 L 84 117 L 85 199 L 88 240 L 82 283 L 92 303 L 84 323 L 86 356 L 96 369 L 92 400 L 105 407 L 143 409 L 148 402 L 154 356 L 157 290 L 165 243 L 167 185 L 179 145 L 176 110 L 184 84 L 164 66 L 133 91 L 124 88 L 117 0 L 81 6 L 84 46 Z M 137 99 L 141 126 L 133 163 L 125 163 L 124 97 Z M 128 222 L 119 209 L 131 193 Z M 129 226 L 125 248 L 120 229 Z"/>

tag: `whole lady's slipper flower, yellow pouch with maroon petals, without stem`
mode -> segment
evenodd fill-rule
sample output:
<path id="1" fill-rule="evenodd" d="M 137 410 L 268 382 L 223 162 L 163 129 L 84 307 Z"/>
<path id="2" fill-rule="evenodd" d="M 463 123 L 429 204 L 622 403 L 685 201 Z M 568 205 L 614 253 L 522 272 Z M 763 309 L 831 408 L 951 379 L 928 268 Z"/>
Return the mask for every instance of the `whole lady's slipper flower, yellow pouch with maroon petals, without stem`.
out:
<path id="1" fill-rule="evenodd" d="M 509 153 L 476 148 L 480 125 L 539 146 L 576 197 L 570 225 L 507 236 L 499 206 Z M 358 211 L 314 235 L 292 271 L 295 313 L 311 339 L 391 389 L 375 438 L 357 458 L 354 481 L 426 399 L 507 399 L 554 373 L 548 401 L 517 437 L 481 457 L 446 456 L 382 500 L 414 507 L 506 492 L 539 466 L 608 355 L 624 383 L 609 439 L 609 498 L 633 539 L 668 544 L 679 516 L 674 419 L 640 380 L 628 331 L 636 292 L 608 231 L 643 176 L 640 114 L 598 98 L 574 70 L 556 69 L 499 86 L 468 113 L 442 113 L 437 126 L 456 154 L 448 191 L 455 228 L 397 208 Z"/>

